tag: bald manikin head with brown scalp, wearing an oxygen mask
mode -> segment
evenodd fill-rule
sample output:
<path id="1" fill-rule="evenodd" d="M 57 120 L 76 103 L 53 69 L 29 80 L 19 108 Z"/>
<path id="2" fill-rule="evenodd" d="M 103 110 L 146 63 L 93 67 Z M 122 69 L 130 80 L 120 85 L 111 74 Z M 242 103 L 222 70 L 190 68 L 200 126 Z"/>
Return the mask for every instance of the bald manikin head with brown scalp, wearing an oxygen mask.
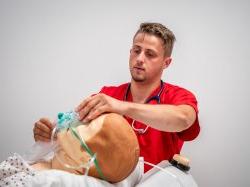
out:
<path id="1" fill-rule="evenodd" d="M 79 175 L 87 172 L 112 183 L 125 179 L 139 159 L 137 137 L 128 122 L 118 114 L 108 113 L 83 124 L 74 115 L 59 114 L 53 133 L 57 137 L 55 155 L 49 164 L 40 162 L 33 168 Z"/>

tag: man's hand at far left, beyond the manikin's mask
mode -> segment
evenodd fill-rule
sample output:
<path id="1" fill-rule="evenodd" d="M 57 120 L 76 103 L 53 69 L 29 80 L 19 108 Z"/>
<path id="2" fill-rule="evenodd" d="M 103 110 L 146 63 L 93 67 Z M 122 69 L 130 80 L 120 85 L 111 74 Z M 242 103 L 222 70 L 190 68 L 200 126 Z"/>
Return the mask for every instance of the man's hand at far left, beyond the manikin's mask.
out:
<path id="1" fill-rule="evenodd" d="M 49 142 L 54 124 L 47 118 L 41 118 L 34 124 L 33 134 L 35 141 Z"/>

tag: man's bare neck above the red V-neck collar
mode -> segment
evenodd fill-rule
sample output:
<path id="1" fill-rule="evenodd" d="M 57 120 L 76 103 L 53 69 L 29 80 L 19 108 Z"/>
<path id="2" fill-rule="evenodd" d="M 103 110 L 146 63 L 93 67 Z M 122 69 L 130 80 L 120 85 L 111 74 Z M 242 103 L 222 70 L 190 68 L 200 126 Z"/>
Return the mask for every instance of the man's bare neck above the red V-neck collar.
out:
<path id="1" fill-rule="evenodd" d="M 160 80 L 152 83 L 136 82 L 131 80 L 131 94 L 136 103 L 145 103 L 149 95 L 160 86 Z"/>

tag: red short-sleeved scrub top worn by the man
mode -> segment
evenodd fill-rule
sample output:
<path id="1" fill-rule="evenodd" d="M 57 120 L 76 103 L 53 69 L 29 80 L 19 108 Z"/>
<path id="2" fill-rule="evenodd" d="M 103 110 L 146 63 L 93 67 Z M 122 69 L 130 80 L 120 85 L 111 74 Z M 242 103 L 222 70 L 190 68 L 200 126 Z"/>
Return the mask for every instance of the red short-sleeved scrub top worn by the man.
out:
<path id="1" fill-rule="evenodd" d="M 119 100 L 125 100 L 128 83 L 120 86 L 103 87 L 100 93 L 104 93 L 113 98 Z M 158 95 L 160 87 L 152 92 L 148 97 Z M 160 104 L 171 105 L 190 105 L 198 114 L 197 101 L 195 96 L 188 90 L 174 86 L 168 83 L 163 83 L 163 91 L 160 96 Z M 127 101 L 132 101 L 132 95 L 129 91 Z M 149 104 L 157 104 L 156 100 L 150 101 Z M 126 117 L 129 124 L 132 123 L 132 119 Z M 145 129 L 146 125 L 138 121 L 135 121 L 134 126 L 136 128 Z M 170 160 L 174 154 L 179 154 L 184 141 L 193 140 L 198 136 L 200 132 L 200 126 L 198 121 L 198 115 L 194 124 L 188 129 L 182 132 L 163 132 L 149 127 L 144 134 L 136 133 L 139 145 L 140 156 L 144 157 L 144 160 L 153 164 L 158 164 L 162 160 Z M 144 172 L 151 169 L 151 166 L 145 165 Z"/>

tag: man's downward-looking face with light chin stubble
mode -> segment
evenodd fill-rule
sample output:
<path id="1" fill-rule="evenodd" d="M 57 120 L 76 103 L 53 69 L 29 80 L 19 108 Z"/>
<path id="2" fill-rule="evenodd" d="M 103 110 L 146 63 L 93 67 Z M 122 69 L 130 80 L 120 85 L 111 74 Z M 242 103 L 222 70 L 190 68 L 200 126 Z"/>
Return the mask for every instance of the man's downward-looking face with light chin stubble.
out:
<path id="1" fill-rule="evenodd" d="M 161 79 L 163 70 L 171 62 L 166 57 L 163 41 L 150 34 L 138 33 L 130 50 L 129 68 L 136 82 L 152 82 Z"/>

